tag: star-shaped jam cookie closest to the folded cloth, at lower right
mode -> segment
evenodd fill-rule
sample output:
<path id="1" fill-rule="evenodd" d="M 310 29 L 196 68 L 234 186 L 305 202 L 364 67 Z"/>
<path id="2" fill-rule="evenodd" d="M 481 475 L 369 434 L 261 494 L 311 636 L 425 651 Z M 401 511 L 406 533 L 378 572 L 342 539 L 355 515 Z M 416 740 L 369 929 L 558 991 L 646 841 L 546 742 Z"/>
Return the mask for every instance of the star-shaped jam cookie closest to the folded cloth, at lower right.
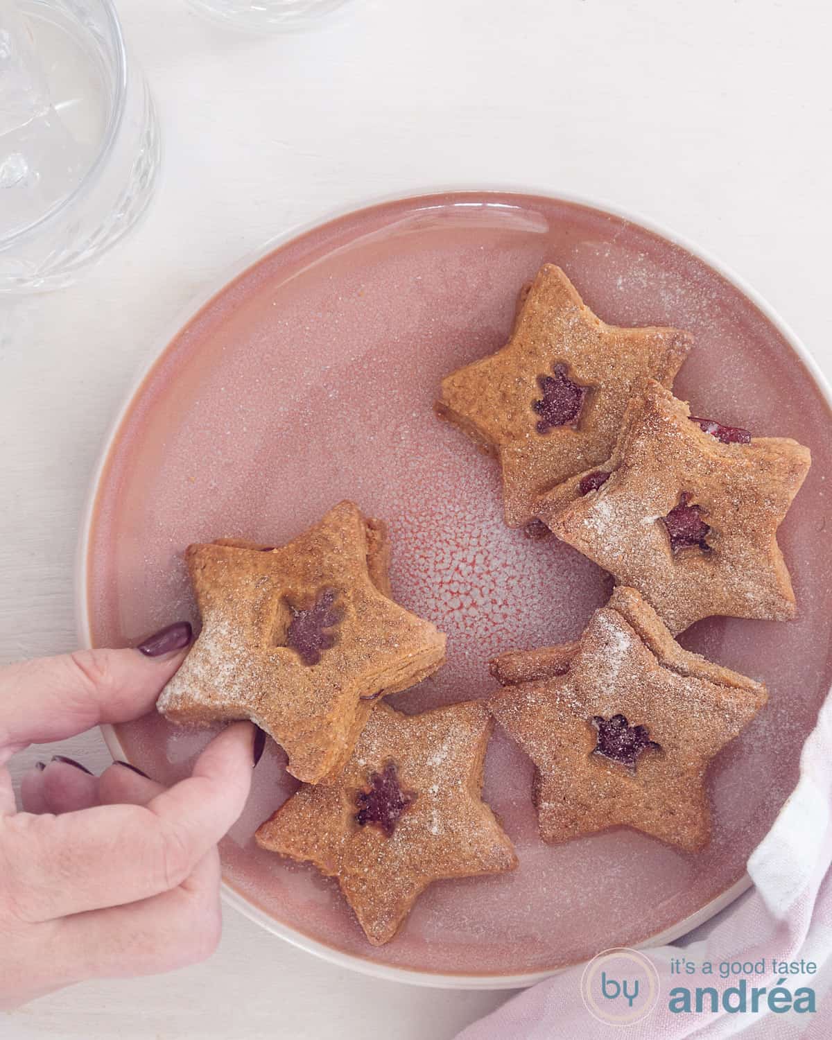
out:
<path id="1" fill-rule="evenodd" d="M 490 702 L 536 766 L 544 841 L 626 826 L 695 852 L 707 844 L 710 759 L 754 718 L 765 687 L 687 653 L 633 589 L 619 588 L 576 644 L 493 662 Z M 571 659 L 570 659 L 571 658 Z M 564 667 L 567 670 L 564 671 Z"/>

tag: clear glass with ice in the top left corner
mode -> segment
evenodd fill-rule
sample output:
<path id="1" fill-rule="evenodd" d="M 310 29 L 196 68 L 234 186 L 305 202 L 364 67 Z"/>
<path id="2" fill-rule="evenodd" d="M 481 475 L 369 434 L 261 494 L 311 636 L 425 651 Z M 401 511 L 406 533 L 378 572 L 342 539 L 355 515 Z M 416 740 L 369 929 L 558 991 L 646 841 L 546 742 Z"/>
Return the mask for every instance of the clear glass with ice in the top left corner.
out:
<path id="1" fill-rule="evenodd" d="M 0 292 L 74 281 L 141 215 L 158 163 L 111 0 L 0 0 Z"/>

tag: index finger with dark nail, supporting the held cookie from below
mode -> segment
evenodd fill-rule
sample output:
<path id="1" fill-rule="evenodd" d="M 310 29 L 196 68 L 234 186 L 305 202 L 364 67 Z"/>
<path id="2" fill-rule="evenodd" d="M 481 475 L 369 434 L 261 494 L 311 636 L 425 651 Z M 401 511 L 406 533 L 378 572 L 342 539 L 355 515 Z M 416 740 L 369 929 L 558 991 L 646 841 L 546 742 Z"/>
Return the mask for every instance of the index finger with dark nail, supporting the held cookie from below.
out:
<path id="1" fill-rule="evenodd" d="M 254 727 L 234 723 L 192 776 L 147 806 L 101 805 L 0 820 L 3 894 L 27 921 L 120 906 L 180 885 L 242 812 Z"/>

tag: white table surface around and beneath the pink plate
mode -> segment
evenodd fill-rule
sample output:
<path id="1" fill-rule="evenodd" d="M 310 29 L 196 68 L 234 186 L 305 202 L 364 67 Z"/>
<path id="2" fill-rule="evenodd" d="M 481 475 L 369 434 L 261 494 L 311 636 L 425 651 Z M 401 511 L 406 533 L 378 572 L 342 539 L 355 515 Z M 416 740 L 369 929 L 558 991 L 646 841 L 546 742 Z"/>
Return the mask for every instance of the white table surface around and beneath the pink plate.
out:
<path id="1" fill-rule="evenodd" d="M 74 646 L 79 513 L 137 365 L 238 257 L 334 208 L 449 183 L 606 200 L 721 257 L 832 374 L 828 4 L 352 0 L 283 37 L 184 0 L 120 8 L 163 174 L 82 284 L 0 302 L 0 664 Z M 97 734 L 60 750 L 109 761 Z M 371 981 L 227 911 L 208 963 L 76 987 L 0 1014 L 0 1036 L 443 1040 L 508 995 Z"/>

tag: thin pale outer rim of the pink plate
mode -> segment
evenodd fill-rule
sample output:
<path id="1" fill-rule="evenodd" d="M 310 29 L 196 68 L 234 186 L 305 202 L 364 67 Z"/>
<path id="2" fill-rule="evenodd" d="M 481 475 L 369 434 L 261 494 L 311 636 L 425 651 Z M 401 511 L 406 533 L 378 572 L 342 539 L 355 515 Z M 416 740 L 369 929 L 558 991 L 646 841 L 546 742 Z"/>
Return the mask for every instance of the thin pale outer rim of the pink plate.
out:
<path id="1" fill-rule="evenodd" d="M 472 186 L 470 182 L 457 182 L 439 185 L 434 184 L 405 191 L 371 196 L 355 203 L 329 209 L 321 215 L 310 220 L 298 222 L 297 224 L 287 228 L 285 231 L 266 239 L 264 243 L 255 250 L 248 251 L 236 261 L 233 261 L 228 266 L 224 266 L 220 274 L 210 280 L 207 288 L 203 288 L 194 292 L 188 302 L 177 311 L 176 316 L 170 324 L 165 326 L 158 339 L 154 337 L 152 346 L 148 347 L 147 353 L 139 361 L 137 371 L 128 386 L 128 390 L 124 396 L 122 405 L 116 410 L 115 415 L 107 428 L 107 433 L 102 442 L 102 447 L 93 468 L 93 473 L 84 496 L 84 503 L 78 529 L 73 582 L 76 632 L 80 646 L 85 648 L 92 646 L 89 612 L 89 536 L 93 528 L 93 521 L 97 514 L 96 506 L 101 490 L 101 479 L 105 473 L 112 450 L 119 440 L 122 426 L 130 414 L 136 397 L 140 393 L 153 369 L 156 367 L 156 364 L 168 350 L 178 335 L 227 286 L 239 279 L 245 274 L 246 270 L 259 263 L 270 253 L 280 249 L 282 245 L 286 245 L 304 235 L 319 230 L 328 224 L 332 224 L 343 217 L 360 213 L 366 209 L 373 209 L 379 206 L 396 202 L 408 202 L 410 200 L 415 201 L 435 196 L 452 194 L 517 194 L 524 196 L 526 198 L 537 197 L 547 199 L 552 202 L 564 202 L 616 216 L 620 219 L 626 220 L 628 224 L 632 224 L 654 235 L 665 238 L 673 245 L 686 251 L 692 256 L 711 267 L 718 275 L 743 293 L 743 295 L 745 295 L 746 298 L 748 298 L 768 318 L 768 320 L 772 322 L 781 336 L 786 340 L 795 354 L 800 358 L 830 411 L 832 411 L 832 386 L 830 385 L 829 380 L 818 363 L 815 361 L 813 355 L 809 352 L 808 347 L 803 343 L 802 339 L 780 315 L 780 313 L 763 296 L 761 296 L 757 290 L 753 288 L 753 286 L 746 282 L 742 276 L 734 271 L 728 264 L 719 259 L 709 250 L 701 248 L 698 243 L 693 242 L 686 236 L 678 234 L 677 232 L 665 227 L 659 222 L 644 216 L 635 210 L 620 206 L 606 200 L 592 199 L 568 191 L 558 191 L 556 188 L 552 188 L 551 186 L 529 185 L 526 183 L 516 182 L 492 183 L 488 186 Z M 102 736 L 104 737 L 104 742 L 106 743 L 113 758 L 123 759 L 125 756 L 125 749 L 122 747 L 114 727 L 111 725 L 102 725 L 100 729 Z M 788 798 L 790 798 L 790 795 Z M 788 801 L 788 798 L 786 801 Z M 780 812 L 782 811 L 783 806 L 781 806 L 775 821 L 779 818 Z M 694 928 L 697 928 L 699 925 L 709 920 L 721 910 L 730 906 L 731 903 L 738 899 L 738 896 L 742 895 L 743 892 L 747 891 L 752 885 L 753 881 L 751 877 L 748 873 L 745 873 L 732 885 L 722 891 L 719 895 L 714 896 L 714 899 L 710 900 L 704 906 L 700 907 L 699 910 L 688 914 L 686 917 L 681 918 L 667 929 L 648 936 L 643 941 L 636 943 L 634 948 L 649 948 L 651 946 L 658 946 L 672 942 L 673 940 L 692 931 Z M 576 961 L 573 964 L 561 965 L 557 968 L 515 974 L 499 974 L 496 972 L 454 974 L 449 972 L 424 971 L 417 968 L 407 968 L 391 964 L 381 964 L 371 960 L 369 956 L 361 957 L 357 954 L 344 953 L 335 946 L 330 946 L 324 942 L 313 939 L 311 936 L 304 934 L 298 929 L 290 928 L 289 926 L 282 924 L 267 914 L 264 910 L 260 909 L 251 900 L 242 895 L 225 877 L 220 883 L 220 894 L 223 902 L 226 905 L 233 907 L 244 917 L 249 918 L 249 920 L 254 921 L 274 935 L 280 936 L 291 945 L 304 950 L 331 964 L 337 965 L 338 967 L 349 968 L 353 971 L 359 971 L 363 974 L 376 979 L 383 979 L 389 982 L 407 983 L 415 986 L 434 987 L 439 989 L 521 989 L 532 986 L 536 983 L 541 982 L 544 979 L 551 978 L 562 971 L 567 971 L 577 964 L 587 963 L 584 961 Z"/>

